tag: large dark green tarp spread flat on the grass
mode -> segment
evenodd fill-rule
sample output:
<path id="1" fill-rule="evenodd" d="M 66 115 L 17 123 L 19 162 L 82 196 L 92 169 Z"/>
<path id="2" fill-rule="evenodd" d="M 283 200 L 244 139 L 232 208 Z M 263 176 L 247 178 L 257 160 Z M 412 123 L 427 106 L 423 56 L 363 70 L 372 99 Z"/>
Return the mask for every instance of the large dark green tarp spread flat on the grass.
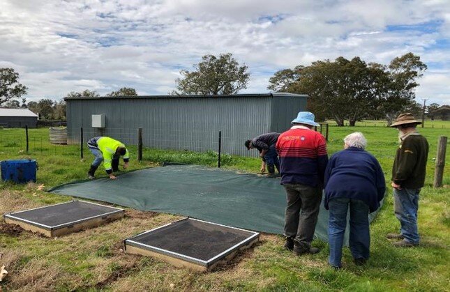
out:
<path id="1" fill-rule="evenodd" d="M 168 165 L 68 183 L 50 192 L 283 234 L 285 190 L 279 178 L 195 165 Z M 321 203 L 315 235 L 327 241 L 328 211 Z M 348 232 L 348 230 L 347 230 Z"/>

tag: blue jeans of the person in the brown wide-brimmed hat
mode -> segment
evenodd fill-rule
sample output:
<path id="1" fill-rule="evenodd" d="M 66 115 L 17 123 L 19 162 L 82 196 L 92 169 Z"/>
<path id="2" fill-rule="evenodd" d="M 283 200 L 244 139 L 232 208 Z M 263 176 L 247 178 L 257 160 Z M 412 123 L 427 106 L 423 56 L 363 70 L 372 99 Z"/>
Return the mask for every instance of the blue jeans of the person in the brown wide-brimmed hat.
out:
<path id="1" fill-rule="evenodd" d="M 419 244 L 417 230 L 417 210 L 419 210 L 419 192 L 421 189 L 393 189 L 393 208 L 400 221 L 400 234 L 408 243 Z"/>

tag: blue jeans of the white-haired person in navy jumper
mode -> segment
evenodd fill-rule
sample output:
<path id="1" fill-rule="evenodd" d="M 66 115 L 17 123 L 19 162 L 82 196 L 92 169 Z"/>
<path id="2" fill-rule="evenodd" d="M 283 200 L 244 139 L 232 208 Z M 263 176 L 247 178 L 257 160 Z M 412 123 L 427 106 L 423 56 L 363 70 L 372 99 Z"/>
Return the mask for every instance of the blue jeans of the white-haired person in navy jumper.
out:
<path id="1" fill-rule="evenodd" d="M 350 251 L 354 259 L 368 259 L 370 254 L 369 206 L 361 200 L 336 198 L 329 201 L 329 263 L 341 266 L 347 210 L 350 206 Z"/>

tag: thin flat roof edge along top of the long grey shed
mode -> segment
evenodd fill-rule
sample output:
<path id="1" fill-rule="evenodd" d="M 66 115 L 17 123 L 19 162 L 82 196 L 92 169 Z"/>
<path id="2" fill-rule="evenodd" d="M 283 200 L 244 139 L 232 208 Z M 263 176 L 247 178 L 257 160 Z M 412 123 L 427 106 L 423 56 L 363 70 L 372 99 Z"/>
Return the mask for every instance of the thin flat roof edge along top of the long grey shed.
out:
<path id="1" fill-rule="evenodd" d="M 98 96 L 95 98 L 64 98 L 64 100 L 102 100 L 102 99 L 117 99 L 117 98 L 276 98 L 278 96 L 292 96 L 292 97 L 308 97 L 306 94 L 295 94 L 285 92 L 274 93 L 246 93 L 246 94 L 221 94 L 221 95 L 135 95 L 135 96 Z"/>

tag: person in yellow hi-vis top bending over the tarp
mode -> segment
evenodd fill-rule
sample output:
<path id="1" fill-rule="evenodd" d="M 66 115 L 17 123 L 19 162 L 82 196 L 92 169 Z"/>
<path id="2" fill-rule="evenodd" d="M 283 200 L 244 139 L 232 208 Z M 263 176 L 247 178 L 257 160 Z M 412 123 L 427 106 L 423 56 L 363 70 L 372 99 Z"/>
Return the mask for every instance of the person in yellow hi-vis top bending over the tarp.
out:
<path id="1" fill-rule="evenodd" d="M 119 171 L 119 158 L 123 156 L 123 169 L 128 168 L 128 150 L 120 141 L 114 140 L 110 137 L 94 137 L 87 141 L 89 151 L 96 157 L 89 169 L 87 176 L 89 179 L 94 178 L 94 174 L 98 166 L 103 161 L 106 173 L 110 179 L 115 180 L 114 171 Z"/>

